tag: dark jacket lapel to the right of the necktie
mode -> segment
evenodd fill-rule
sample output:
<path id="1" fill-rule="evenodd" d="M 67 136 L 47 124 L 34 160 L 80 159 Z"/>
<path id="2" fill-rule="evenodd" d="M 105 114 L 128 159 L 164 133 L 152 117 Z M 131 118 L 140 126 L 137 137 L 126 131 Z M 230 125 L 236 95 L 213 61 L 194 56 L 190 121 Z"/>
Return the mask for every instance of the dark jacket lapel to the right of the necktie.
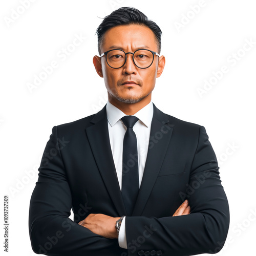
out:
<path id="1" fill-rule="evenodd" d="M 161 169 L 172 133 L 173 125 L 169 124 L 168 116 L 154 105 L 144 174 L 132 216 L 140 216 L 142 214 Z"/>

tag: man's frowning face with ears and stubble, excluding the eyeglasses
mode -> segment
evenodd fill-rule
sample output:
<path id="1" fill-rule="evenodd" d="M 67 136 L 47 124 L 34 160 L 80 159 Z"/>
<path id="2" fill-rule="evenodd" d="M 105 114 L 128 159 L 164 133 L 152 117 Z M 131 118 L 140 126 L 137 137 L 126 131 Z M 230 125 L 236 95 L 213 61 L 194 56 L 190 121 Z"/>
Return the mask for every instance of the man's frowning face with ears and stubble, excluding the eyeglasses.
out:
<path id="1" fill-rule="evenodd" d="M 148 49 L 158 52 L 157 42 L 150 28 L 139 25 L 117 26 L 105 33 L 101 52 L 121 49 L 124 52 L 135 52 L 138 49 Z M 156 78 L 164 68 L 164 56 L 154 56 L 154 62 L 147 69 L 140 69 L 133 62 L 133 55 L 127 54 L 125 65 L 119 69 L 111 68 L 105 56 L 94 57 L 97 73 L 104 78 L 108 90 L 109 101 L 137 103 L 142 99 L 151 100 Z"/>

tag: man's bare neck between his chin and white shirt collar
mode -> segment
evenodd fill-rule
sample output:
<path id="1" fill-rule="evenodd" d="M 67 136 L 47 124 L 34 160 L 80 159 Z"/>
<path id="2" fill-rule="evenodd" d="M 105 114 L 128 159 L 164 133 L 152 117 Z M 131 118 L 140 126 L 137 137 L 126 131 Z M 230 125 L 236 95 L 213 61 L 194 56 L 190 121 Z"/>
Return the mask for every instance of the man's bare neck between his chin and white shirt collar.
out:
<path id="1" fill-rule="evenodd" d="M 137 103 L 124 103 L 110 97 L 109 102 L 121 110 L 125 115 L 134 115 L 151 102 L 151 94 Z"/>

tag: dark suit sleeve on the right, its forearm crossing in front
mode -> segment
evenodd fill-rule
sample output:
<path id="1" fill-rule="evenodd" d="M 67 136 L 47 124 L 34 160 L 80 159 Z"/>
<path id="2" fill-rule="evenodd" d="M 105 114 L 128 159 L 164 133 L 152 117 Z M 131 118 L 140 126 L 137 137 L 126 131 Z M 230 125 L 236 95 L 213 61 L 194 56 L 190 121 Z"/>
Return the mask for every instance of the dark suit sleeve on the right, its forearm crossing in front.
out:
<path id="1" fill-rule="evenodd" d="M 126 217 L 129 255 L 141 250 L 176 256 L 219 252 L 227 237 L 229 207 L 218 169 L 206 131 L 200 126 L 188 189 L 180 192 L 189 201 L 190 215 Z"/>

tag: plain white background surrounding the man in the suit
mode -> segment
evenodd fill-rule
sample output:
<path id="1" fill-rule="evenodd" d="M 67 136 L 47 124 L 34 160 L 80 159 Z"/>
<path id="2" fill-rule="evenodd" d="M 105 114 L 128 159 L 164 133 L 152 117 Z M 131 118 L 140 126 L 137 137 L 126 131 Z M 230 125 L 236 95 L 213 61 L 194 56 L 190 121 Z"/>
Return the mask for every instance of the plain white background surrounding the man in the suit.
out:
<path id="1" fill-rule="evenodd" d="M 138 8 L 163 32 L 166 66 L 153 102 L 167 114 L 205 126 L 219 159 L 231 219 L 218 255 L 255 255 L 255 1 L 31 0 L 26 9 L 21 3 L 0 6 L 1 195 L 10 201 L 9 255 L 35 255 L 29 201 L 52 127 L 96 113 L 106 102 L 92 62 L 98 54 L 95 31 L 101 18 L 122 6 Z M 73 47 L 75 35 L 86 39 Z M 244 51 L 246 40 L 254 45 Z M 62 48 L 69 55 L 60 55 Z M 44 76 L 52 61 L 58 67 Z M 212 78 L 222 66 L 228 72 Z M 29 90 L 40 74 L 45 80 Z M 214 85 L 200 97 L 205 80 Z"/>

